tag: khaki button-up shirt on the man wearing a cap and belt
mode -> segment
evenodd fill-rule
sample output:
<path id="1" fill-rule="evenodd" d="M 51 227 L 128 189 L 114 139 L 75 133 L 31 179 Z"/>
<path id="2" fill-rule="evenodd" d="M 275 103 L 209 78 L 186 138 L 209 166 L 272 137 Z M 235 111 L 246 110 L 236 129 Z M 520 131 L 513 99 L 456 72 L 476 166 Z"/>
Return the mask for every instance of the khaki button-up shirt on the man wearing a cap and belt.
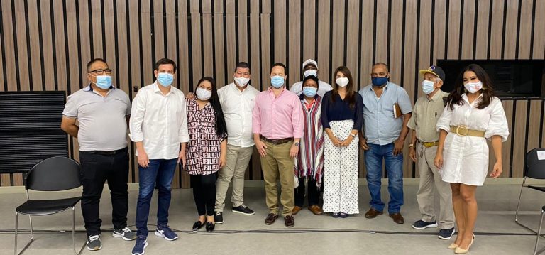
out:
<path id="1" fill-rule="evenodd" d="M 417 139 L 422 142 L 438 141 L 439 132 L 436 130 L 437 120 L 443 113 L 444 97 L 447 92 L 439 90 L 431 99 L 427 96 L 420 97 L 414 104 L 412 116 L 407 126 L 417 131 Z"/>

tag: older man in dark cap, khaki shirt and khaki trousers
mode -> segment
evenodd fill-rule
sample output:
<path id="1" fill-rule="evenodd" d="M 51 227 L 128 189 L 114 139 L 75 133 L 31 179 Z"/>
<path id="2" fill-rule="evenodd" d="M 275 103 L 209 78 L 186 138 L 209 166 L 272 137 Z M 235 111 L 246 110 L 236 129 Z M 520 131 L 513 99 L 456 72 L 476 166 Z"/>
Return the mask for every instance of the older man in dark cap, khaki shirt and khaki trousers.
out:
<path id="1" fill-rule="evenodd" d="M 426 70 L 420 70 L 424 77 L 422 92 L 414 104 L 412 117 L 407 126 L 412 129 L 409 157 L 417 162 L 420 173 L 420 183 L 417 192 L 417 201 L 422 218 L 414 222 L 414 229 L 441 227 L 438 237 L 451 239 L 454 233 L 454 212 L 452 210 L 451 186 L 441 180 L 439 169 L 434 165 L 437 152 L 439 132 L 436 131 L 437 120 L 445 107 L 444 99 L 448 93 L 441 90 L 445 80 L 445 72 L 441 67 L 432 65 Z M 439 193 L 439 211 L 436 217 L 434 205 L 435 190 Z M 439 224 L 438 222 L 439 221 Z"/>

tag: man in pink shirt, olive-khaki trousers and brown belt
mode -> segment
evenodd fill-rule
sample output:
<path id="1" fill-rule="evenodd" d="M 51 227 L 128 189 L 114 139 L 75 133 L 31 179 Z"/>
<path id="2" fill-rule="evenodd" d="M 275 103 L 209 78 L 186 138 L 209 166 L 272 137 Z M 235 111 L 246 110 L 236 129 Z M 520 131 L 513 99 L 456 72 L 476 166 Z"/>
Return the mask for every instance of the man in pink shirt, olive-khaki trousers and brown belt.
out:
<path id="1" fill-rule="evenodd" d="M 276 180 L 280 178 L 282 215 L 286 227 L 293 227 L 294 158 L 299 153 L 304 122 L 299 97 L 285 88 L 286 73 L 284 64 L 272 65 L 271 87 L 255 98 L 252 129 L 255 148 L 261 156 L 266 202 L 269 207 L 265 224 L 270 225 L 278 218 Z"/>

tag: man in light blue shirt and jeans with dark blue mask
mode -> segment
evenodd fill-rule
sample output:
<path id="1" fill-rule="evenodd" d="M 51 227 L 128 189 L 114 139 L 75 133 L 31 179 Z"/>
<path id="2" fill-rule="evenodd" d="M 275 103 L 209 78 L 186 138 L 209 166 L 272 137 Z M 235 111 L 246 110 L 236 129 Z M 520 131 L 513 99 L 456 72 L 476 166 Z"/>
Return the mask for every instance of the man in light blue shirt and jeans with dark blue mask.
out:
<path id="1" fill-rule="evenodd" d="M 365 217 L 382 215 L 380 199 L 382 160 L 388 177 L 388 213 L 395 223 L 403 224 L 403 146 L 409 133 L 411 101 L 402 87 L 390 82 L 385 63 L 376 63 L 371 71 L 372 84 L 360 90 L 363 97 L 364 134 L 360 132 L 360 147 L 365 150 L 365 168 L 371 194 L 370 210 Z"/>

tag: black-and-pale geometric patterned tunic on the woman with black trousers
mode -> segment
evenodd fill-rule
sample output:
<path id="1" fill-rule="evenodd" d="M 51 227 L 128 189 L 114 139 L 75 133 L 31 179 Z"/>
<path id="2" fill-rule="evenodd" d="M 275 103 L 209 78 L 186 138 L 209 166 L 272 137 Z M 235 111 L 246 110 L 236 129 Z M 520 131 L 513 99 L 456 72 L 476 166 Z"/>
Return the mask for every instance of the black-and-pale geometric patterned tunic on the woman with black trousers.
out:
<path id="1" fill-rule="evenodd" d="M 186 156 L 190 175 L 210 175 L 219 170 L 221 142 L 227 139 L 227 134 L 216 134 L 216 117 L 210 103 L 199 110 L 199 104 L 194 99 L 187 102 L 187 129 L 189 142 Z"/>

